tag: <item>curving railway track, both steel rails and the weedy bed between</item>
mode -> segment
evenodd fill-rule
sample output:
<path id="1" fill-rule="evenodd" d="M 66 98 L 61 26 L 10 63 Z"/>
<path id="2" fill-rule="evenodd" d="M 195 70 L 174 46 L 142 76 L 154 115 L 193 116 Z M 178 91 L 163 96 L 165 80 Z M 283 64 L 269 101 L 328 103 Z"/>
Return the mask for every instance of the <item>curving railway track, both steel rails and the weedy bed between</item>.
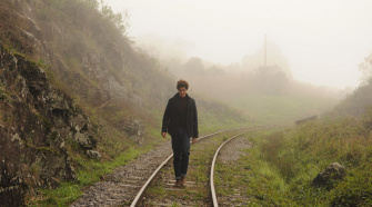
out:
<path id="1" fill-rule="evenodd" d="M 174 177 L 173 177 L 173 170 L 172 170 L 172 165 L 170 160 L 172 159 L 172 155 L 170 155 L 158 168 L 154 170 L 154 172 L 149 177 L 149 179 L 145 181 L 145 184 L 142 186 L 133 201 L 131 203 L 131 207 L 134 206 L 172 206 L 172 205 L 182 205 L 182 206 L 218 206 L 218 199 L 214 190 L 214 165 L 217 157 L 219 155 L 220 149 L 229 141 L 232 139 L 240 137 L 244 134 L 255 131 L 255 130 L 261 130 L 261 129 L 271 129 L 275 128 L 278 126 L 254 126 L 254 127 L 247 127 L 247 128 L 235 128 L 235 129 L 229 129 L 229 130 L 223 130 L 223 131 L 218 131 L 215 134 L 207 135 L 203 136 L 199 139 L 199 144 L 201 145 L 201 149 L 205 149 L 203 146 L 211 146 L 214 145 L 218 150 L 215 151 L 215 148 L 212 149 L 212 155 L 209 152 L 209 155 L 199 155 L 199 156 L 209 156 L 208 158 L 208 165 L 211 166 L 210 168 L 207 167 L 207 164 L 203 166 L 203 164 L 198 164 L 198 159 L 195 159 L 195 155 L 191 152 L 190 156 L 190 165 L 189 165 L 189 171 L 192 171 L 193 168 L 203 168 L 207 167 L 208 170 L 205 171 L 205 175 L 210 175 L 209 178 L 209 186 L 205 184 L 205 178 L 202 176 L 198 176 L 193 178 L 192 181 L 188 181 L 188 187 L 187 189 L 182 189 L 179 187 L 174 187 Z M 227 137 L 220 137 L 213 140 L 211 137 L 214 135 L 220 135 L 221 132 L 228 132 L 230 131 L 237 131 L 240 130 L 240 132 L 235 132 L 233 136 L 229 135 L 231 137 L 228 139 Z M 203 140 L 204 138 L 209 137 L 209 139 Z M 222 142 L 222 144 L 221 144 Z M 197 145 L 197 146 L 198 146 Z M 191 148 L 193 149 L 194 146 Z M 195 147 L 197 148 L 197 147 Z M 212 147 L 213 148 L 213 147 Z M 198 150 L 198 149 L 195 149 Z M 213 156 L 213 160 L 210 158 Z M 197 157 L 198 158 L 198 157 Z M 198 169 L 200 171 L 200 169 Z M 203 171 L 203 169 L 201 170 Z M 192 172 L 189 175 L 193 175 Z M 188 178 L 189 179 L 189 178 Z M 200 181 L 204 180 L 204 181 Z M 208 181 L 207 181 L 208 183 Z M 151 185 L 152 184 L 152 185 Z M 151 187 L 150 187 L 151 186 Z M 152 188 L 148 191 L 152 193 L 147 193 L 148 188 Z M 208 188 L 208 189 L 207 189 Z M 184 198 L 188 197 L 183 193 L 188 191 L 192 199 L 190 198 Z M 158 193 L 157 193 L 158 191 Z M 164 193 L 165 191 L 165 193 Z M 167 193 L 168 191 L 168 193 Z M 158 195 L 157 195 L 158 194 Z M 203 195 L 199 195 L 203 194 Z M 165 196 L 164 196 L 165 195 Z M 211 196 L 210 196 L 211 195 Z M 182 197 L 183 196 L 183 197 Z M 197 199 L 194 199 L 197 197 Z"/>

